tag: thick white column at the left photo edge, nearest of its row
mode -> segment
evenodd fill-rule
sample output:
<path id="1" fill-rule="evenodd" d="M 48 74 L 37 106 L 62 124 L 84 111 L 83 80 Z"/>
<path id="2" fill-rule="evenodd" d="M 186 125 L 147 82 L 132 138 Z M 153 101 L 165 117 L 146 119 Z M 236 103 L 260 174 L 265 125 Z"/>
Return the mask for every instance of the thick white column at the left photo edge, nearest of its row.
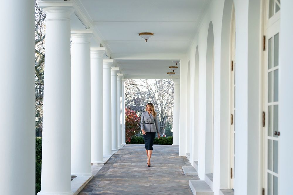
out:
<path id="1" fill-rule="evenodd" d="M 1 2 L 1 194 L 35 194 L 34 13 L 32 0 Z"/>

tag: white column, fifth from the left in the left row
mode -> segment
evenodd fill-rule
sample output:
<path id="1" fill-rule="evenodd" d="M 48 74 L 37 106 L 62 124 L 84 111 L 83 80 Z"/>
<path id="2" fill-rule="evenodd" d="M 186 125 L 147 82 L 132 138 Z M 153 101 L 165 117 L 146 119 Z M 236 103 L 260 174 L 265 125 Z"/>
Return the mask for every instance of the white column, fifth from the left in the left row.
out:
<path id="1" fill-rule="evenodd" d="M 113 63 L 113 59 L 103 60 L 103 152 L 105 155 L 112 153 L 111 65 Z"/>

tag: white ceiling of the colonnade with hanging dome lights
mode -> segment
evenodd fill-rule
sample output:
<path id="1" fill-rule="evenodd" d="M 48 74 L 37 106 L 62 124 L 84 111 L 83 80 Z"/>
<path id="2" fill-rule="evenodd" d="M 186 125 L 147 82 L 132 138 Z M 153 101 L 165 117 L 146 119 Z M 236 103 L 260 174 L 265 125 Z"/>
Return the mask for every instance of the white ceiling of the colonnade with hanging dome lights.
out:
<path id="1" fill-rule="evenodd" d="M 105 46 L 125 78 L 170 78 L 168 66 L 186 54 L 208 1 L 76 0 L 89 23 L 73 14 L 71 29 L 94 30 L 92 46 Z M 139 32 L 154 37 L 146 43 Z"/>

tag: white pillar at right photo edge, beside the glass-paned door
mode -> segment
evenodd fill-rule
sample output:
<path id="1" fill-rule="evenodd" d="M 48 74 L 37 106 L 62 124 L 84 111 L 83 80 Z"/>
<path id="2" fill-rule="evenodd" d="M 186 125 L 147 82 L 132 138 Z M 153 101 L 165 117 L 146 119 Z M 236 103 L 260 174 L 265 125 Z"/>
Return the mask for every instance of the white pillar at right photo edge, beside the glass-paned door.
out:
<path id="1" fill-rule="evenodd" d="M 293 58 L 292 12 L 293 1 L 283 0 L 280 18 L 280 72 L 279 72 L 279 186 L 278 194 L 292 194 L 292 110 Z"/>

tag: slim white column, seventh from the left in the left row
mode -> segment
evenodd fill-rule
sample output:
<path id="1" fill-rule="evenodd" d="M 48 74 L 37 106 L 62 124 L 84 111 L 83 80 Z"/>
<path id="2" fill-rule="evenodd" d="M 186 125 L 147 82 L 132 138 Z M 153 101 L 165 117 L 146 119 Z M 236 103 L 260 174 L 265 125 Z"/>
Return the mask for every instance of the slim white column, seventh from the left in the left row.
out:
<path id="1" fill-rule="evenodd" d="M 123 74 L 117 73 L 117 145 L 122 144 L 122 78 Z"/>

